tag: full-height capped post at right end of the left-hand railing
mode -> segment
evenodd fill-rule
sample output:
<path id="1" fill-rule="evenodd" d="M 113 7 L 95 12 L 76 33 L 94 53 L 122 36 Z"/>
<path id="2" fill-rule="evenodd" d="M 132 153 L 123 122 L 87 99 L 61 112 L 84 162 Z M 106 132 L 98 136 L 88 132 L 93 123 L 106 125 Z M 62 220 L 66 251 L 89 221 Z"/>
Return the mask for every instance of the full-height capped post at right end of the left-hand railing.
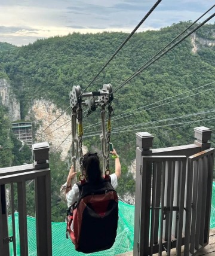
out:
<path id="1" fill-rule="evenodd" d="M 48 164 L 48 142 L 33 144 L 35 170 L 46 169 Z M 51 244 L 51 176 L 35 179 L 36 244 L 38 255 L 52 255 Z"/>

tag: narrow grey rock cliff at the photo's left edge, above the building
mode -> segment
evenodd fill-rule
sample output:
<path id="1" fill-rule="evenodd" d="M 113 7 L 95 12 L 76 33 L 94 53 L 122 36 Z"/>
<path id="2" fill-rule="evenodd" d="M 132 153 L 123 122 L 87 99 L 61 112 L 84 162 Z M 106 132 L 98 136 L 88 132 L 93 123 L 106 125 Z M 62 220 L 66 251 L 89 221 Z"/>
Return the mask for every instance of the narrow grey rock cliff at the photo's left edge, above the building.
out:
<path id="1" fill-rule="evenodd" d="M 11 121 L 20 120 L 20 102 L 14 95 L 10 82 L 0 79 L 0 102 L 8 108 L 8 117 Z"/>

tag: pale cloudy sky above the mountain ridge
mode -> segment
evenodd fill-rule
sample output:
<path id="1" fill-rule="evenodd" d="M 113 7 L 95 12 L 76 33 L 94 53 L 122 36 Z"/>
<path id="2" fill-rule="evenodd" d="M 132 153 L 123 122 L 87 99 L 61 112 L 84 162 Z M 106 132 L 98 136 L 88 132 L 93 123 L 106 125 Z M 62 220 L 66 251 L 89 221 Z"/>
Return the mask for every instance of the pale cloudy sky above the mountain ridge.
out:
<path id="1" fill-rule="evenodd" d="M 131 32 L 155 2 L 0 0 L 0 41 L 20 46 L 36 39 L 72 32 Z M 138 31 L 160 29 L 180 21 L 194 21 L 214 4 L 215 0 L 162 0 Z M 215 7 L 206 17 L 214 11 Z M 213 18 L 210 23 L 214 22 Z"/>

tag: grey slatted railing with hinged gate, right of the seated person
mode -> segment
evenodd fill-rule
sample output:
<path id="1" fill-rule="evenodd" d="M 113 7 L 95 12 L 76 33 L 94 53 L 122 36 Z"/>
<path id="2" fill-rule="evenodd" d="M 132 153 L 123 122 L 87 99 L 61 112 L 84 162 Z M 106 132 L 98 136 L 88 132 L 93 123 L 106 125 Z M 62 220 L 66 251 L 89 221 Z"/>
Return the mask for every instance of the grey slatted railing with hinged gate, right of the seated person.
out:
<path id="1" fill-rule="evenodd" d="M 136 135 L 134 255 L 181 255 L 183 245 L 195 255 L 208 244 L 214 149 L 210 129 L 194 130 L 194 144 L 156 150 L 151 134 Z"/>

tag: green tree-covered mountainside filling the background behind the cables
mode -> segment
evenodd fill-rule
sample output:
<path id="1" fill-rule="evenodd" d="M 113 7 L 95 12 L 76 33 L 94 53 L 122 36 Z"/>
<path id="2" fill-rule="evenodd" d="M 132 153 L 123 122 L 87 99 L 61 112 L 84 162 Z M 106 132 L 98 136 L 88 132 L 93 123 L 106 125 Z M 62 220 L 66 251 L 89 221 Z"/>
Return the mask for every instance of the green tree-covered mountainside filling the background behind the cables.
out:
<path id="1" fill-rule="evenodd" d="M 180 22 L 159 31 L 134 34 L 88 91 L 102 89 L 105 83 L 111 83 L 116 89 L 190 24 Z M 21 118 L 26 116 L 32 100 L 41 97 L 66 109 L 72 86 L 79 85 L 84 89 L 127 36 L 127 33 L 118 32 L 72 33 L 41 39 L 23 47 L 4 48 L 0 44 L 0 65 L 4 66 L 5 74 L 19 97 Z M 136 132 L 152 133 L 155 148 L 192 143 L 193 127 L 196 126 L 214 129 L 211 118 L 214 117 L 215 83 L 210 84 L 214 81 L 215 24 L 205 25 L 196 31 L 195 35 L 189 36 L 114 94 L 112 105 L 116 120 L 112 121 L 111 141 L 122 160 L 120 196 L 127 192 L 134 193 L 133 176 L 128 173 L 128 165 L 136 154 Z M 135 109 L 137 111 L 124 114 Z M 208 110 L 210 112 L 195 114 Z M 117 118 L 120 114 L 124 114 L 120 117 L 125 118 Z M 99 118 L 99 109 L 85 118 L 85 126 L 95 124 L 91 129 L 84 130 L 86 135 L 91 131 L 93 135 L 100 131 L 100 126 L 96 126 Z M 0 139 L 4 136 L 0 133 Z M 99 136 L 84 139 L 84 144 L 89 150 L 97 150 L 100 147 Z M 10 157 L 8 153 L 8 159 Z M 67 164 L 60 160 L 58 153 L 56 157 L 51 156 L 50 162 L 53 220 L 62 220 L 64 203 L 58 191 L 66 179 Z"/>

